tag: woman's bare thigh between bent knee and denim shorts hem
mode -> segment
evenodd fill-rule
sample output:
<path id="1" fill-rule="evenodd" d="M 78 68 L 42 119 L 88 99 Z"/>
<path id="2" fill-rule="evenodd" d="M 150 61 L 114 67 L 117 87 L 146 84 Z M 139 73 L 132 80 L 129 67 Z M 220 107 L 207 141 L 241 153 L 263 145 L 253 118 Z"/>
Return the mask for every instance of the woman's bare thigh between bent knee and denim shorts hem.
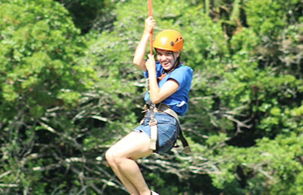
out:
<path id="1" fill-rule="evenodd" d="M 145 133 L 132 131 L 108 149 L 115 157 L 138 159 L 152 153 L 150 138 Z"/>

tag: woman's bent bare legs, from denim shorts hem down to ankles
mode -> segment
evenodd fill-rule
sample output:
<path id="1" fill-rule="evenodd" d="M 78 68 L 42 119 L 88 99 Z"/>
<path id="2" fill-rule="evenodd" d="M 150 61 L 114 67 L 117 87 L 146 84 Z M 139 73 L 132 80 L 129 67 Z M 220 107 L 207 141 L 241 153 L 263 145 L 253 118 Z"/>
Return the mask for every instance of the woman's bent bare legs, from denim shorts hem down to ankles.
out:
<path id="1" fill-rule="evenodd" d="M 105 154 L 105 157 L 116 176 L 133 195 L 149 194 L 142 173 L 134 161 L 152 153 L 149 149 L 150 138 L 145 133 L 131 132 Z"/>

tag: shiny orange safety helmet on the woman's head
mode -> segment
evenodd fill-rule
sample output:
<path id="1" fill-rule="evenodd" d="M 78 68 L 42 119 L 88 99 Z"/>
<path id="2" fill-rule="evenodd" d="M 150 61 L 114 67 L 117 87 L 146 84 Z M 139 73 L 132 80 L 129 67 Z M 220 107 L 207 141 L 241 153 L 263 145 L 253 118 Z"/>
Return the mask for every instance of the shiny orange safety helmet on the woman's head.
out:
<path id="1" fill-rule="evenodd" d="M 168 51 L 180 51 L 183 48 L 182 35 L 175 30 L 166 29 L 155 37 L 153 47 L 156 49 L 163 49 Z"/>

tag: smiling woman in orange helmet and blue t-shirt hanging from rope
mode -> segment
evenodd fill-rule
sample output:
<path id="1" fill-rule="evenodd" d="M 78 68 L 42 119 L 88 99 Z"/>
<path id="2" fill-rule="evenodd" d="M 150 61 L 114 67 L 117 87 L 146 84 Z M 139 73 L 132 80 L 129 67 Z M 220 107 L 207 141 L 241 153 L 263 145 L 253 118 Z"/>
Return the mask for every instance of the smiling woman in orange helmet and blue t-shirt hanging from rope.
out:
<path id="1" fill-rule="evenodd" d="M 161 103 L 178 115 L 182 116 L 187 111 L 188 92 L 192 80 L 192 69 L 180 63 L 180 51 L 183 47 L 183 38 L 178 31 L 161 31 L 153 41 L 153 47 L 157 52 L 157 62 L 154 56 L 148 54 L 148 60 L 144 60 L 148 39 L 155 27 L 152 16 L 145 19 L 145 28 L 142 38 L 136 48 L 133 63 L 143 71 L 149 79 L 149 92 L 145 95 L 145 101 L 150 100 L 151 105 Z M 169 114 L 155 108 L 157 120 L 157 149 L 150 148 L 151 109 L 145 115 L 140 126 L 123 137 L 110 147 L 106 154 L 106 160 L 122 181 L 128 192 L 132 195 L 157 195 L 151 191 L 142 176 L 135 160 L 148 156 L 153 152 L 168 152 L 179 135 L 177 120 Z"/>

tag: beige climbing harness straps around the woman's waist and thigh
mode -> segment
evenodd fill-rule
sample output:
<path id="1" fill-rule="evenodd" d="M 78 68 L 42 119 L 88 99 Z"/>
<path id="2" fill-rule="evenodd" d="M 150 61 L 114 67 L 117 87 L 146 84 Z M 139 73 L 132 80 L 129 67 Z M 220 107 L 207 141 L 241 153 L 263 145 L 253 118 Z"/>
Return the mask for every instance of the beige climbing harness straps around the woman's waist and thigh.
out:
<path id="1" fill-rule="evenodd" d="M 165 104 L 153 104 L 151 103 L 151 101 L 147 101 L 146 105 L 149 107 L 149 110 L 151 111 L 151 120 L 149 121 L 149 125 L 151 127 L 151 144 L 150 144 L 150 149 L 151 150 L 156 150 L 156 143 L 157 143 L 157 134 L 158 134 L 158 130 L 157 130 L 157 120 L 154 117 L 154 112 L 164 112 L 172 117 L 174 117 L 177 121 L 178 127 L 180 129 L 180 134 L 179 134 L 179 139 L 182 142 L 183 145 L 183 149 L 186 153 L 191 152 L 191 149 L 188 145 L 187 140 L 185 139 L 185 137 L 182 134 L 181 131 L 181 127 L 180 127 L 180 120 L 179 120 L 179 116 L 178 114 L 173 111 L 169 106 L 165 105 Z"/>

